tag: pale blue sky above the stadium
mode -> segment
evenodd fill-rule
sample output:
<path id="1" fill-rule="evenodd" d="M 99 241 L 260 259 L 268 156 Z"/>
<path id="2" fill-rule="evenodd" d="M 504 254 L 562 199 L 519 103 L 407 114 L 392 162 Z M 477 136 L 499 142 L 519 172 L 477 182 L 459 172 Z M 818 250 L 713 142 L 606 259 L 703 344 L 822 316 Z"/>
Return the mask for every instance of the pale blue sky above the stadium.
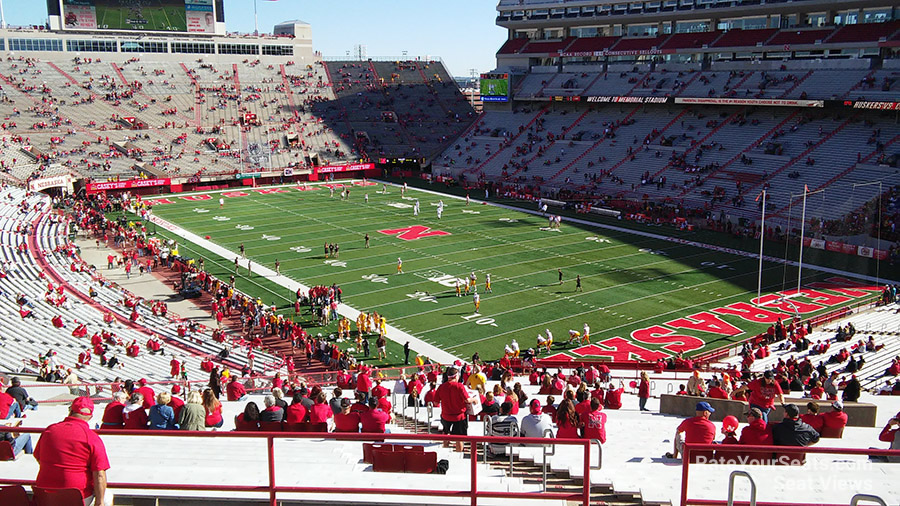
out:
<path id="1" fill-rule="evenodd" d="M 45 0 L 3 2 L 10 25 L 43 24 Z M 261 32 L 281 21 L 312 25 L 313 47 L 325 56 L 343 56 L 366 46 L 368 56 L 440 57 L 455 76 L 469 69 L 492 70 L 506 32 L 494 23 L 495 0 L 258 0 Z M 229 31 L 253 31 L 253 1 L 225 0 Z"/>

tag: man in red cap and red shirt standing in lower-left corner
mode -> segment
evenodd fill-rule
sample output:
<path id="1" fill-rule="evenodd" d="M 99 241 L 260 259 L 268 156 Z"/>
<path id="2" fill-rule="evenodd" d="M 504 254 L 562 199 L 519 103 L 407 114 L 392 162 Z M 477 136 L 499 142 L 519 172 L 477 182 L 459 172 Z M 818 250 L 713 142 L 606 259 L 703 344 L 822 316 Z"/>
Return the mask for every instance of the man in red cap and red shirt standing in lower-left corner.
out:
<path id="1" fill-rule="evenodd" d="M 111 504 L 105 500 L 109 459 L 100 436 L 88 426 L 93 414 L 94 401 L 78 397 L 69 407 L 69 416 L 41 434 L 34 448 L 41 466 L 35 485 L 77 488 L 85 504 L 103 506 Z"/>

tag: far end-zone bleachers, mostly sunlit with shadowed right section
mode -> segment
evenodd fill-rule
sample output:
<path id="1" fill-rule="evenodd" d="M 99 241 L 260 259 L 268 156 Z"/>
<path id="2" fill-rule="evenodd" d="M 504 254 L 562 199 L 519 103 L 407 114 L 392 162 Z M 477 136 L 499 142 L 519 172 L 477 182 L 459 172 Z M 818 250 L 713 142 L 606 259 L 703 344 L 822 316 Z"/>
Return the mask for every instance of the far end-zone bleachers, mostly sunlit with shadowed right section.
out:
<path id="1" fill-rule="evenodd" d="M 362 85 L 354 86 L 357 79 L 344 82 L 345 65 L 366 67 Z M 272 146 L 263 166 L 275 169 L 303 167 L 311 157 L 320 164 L 358 161 L 366 154 L 431 157 L 474 119 L 442 63 L 378 62 L 377 68 L 383 82 L 376 83 L 376 64 L 370 62 L 300 68 L 249 60 L 229 65 L 9 58 L 0 65 L 0 79 L 10 85 L 4 86 L 10 100 L 0 103 L 0 116 L 10 120 L 4 136 L 21 135 L 23 144 L 63 164 L 61 171 L 96 180 L 133 177 L 138 162 L 168 176 L 247 171 L 258 166 L 249 158 L 242 164 L 236 152 L 252 144 Z M 383 112 L 399 121 L 386 122 Z M 245 113 L 256 114 L 260 125 L 242 125 Z M 148 128 L 123 129 L 114 117 L 133 117 Z M 287 145 L 289 132 L 298 135 L 299 146 Z M 368 146 L 357 143 L 360 132 Z M 118 153 L 107 137 L 130 141 L 143 153 Z M 211 137 L 227 148 L 210 148 L 205 141 Z M 12 143 L 4 143 L 0 157 L 17 158 L 18 179 L 49 175 L 33 174 L 37 167 Z"/>

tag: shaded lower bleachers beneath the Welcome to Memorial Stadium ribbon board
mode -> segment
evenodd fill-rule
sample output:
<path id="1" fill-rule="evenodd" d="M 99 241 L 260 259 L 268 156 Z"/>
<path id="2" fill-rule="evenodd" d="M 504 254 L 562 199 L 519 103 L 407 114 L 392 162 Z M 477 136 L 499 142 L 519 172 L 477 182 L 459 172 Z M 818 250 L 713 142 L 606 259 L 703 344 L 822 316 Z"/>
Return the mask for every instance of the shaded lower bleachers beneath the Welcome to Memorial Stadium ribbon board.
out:
<path id="1" fill-rule="evenodd" d="M 629 199 L 673 198 L 693 207 L 711 204 L 750 218 L 758 210 L 739 199 L 752 201 L 767 184 L 769 208 L 785 222 L 790 215 L 799 217 L 791 205 L 796 208 L 804 186 L 827 188 L 827 205 L 817 204 L 815 212 L 835 219 L 874 197 L 854 184 L 900 184 L 900 173 L 880 162 L 898 151 L 898 136 L 893 116 L 880 113 L 640 104 L 573 109 L 534 103 L 486 113 L 436 165 L 470 178 Z M 673 163 L 673 155 L 684 163 Z M 712 201 L 716 190 L 722 198 Z"/>

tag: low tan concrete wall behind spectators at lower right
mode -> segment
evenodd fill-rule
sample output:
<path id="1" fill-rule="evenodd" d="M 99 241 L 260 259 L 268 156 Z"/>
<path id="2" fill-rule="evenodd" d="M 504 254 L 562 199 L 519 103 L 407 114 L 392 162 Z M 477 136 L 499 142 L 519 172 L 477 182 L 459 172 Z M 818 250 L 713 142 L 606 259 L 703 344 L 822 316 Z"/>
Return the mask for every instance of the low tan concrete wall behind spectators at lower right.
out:
<path id="1" fill-rule="evenodd" d="M 744 413 L 747 412 L 749 406 L 746 402 L 732 401 L 725 399 L 710 399 L 707 397 L 690 397 L 687 395 L 670 395 L 663 394 L 660 396 L 659 412 L 666 415 L 678 415 L 691 417 L 695 414 L 695 408 L 700 401 L 706 401 L 715 408 L 716 412 L 710 416 L 710 420 L 721 421 L 728 415 L 734 415 L 742 423 L 747 421 Z M 813 401 L 812 399 L 791 399 L 784 398 L 785 404 L 794 403 L 800 408 L 800 413 L 806 413 L 806 404 L 818 402 L 819 412 L 826 413 L 831 411 L 831 402 Z M 844 412 L 847 413 L 847 425 L 851 427 L 875 427 L 875 415 L 878 408 L 874 404 L 866 404 L 862 402 L 848 402 L 844 404 Z M 784 409 L 779 405 L 775 405 L 775 409 L 769 413 L 769 422 L 778 423 L 784 418 Z"/>

